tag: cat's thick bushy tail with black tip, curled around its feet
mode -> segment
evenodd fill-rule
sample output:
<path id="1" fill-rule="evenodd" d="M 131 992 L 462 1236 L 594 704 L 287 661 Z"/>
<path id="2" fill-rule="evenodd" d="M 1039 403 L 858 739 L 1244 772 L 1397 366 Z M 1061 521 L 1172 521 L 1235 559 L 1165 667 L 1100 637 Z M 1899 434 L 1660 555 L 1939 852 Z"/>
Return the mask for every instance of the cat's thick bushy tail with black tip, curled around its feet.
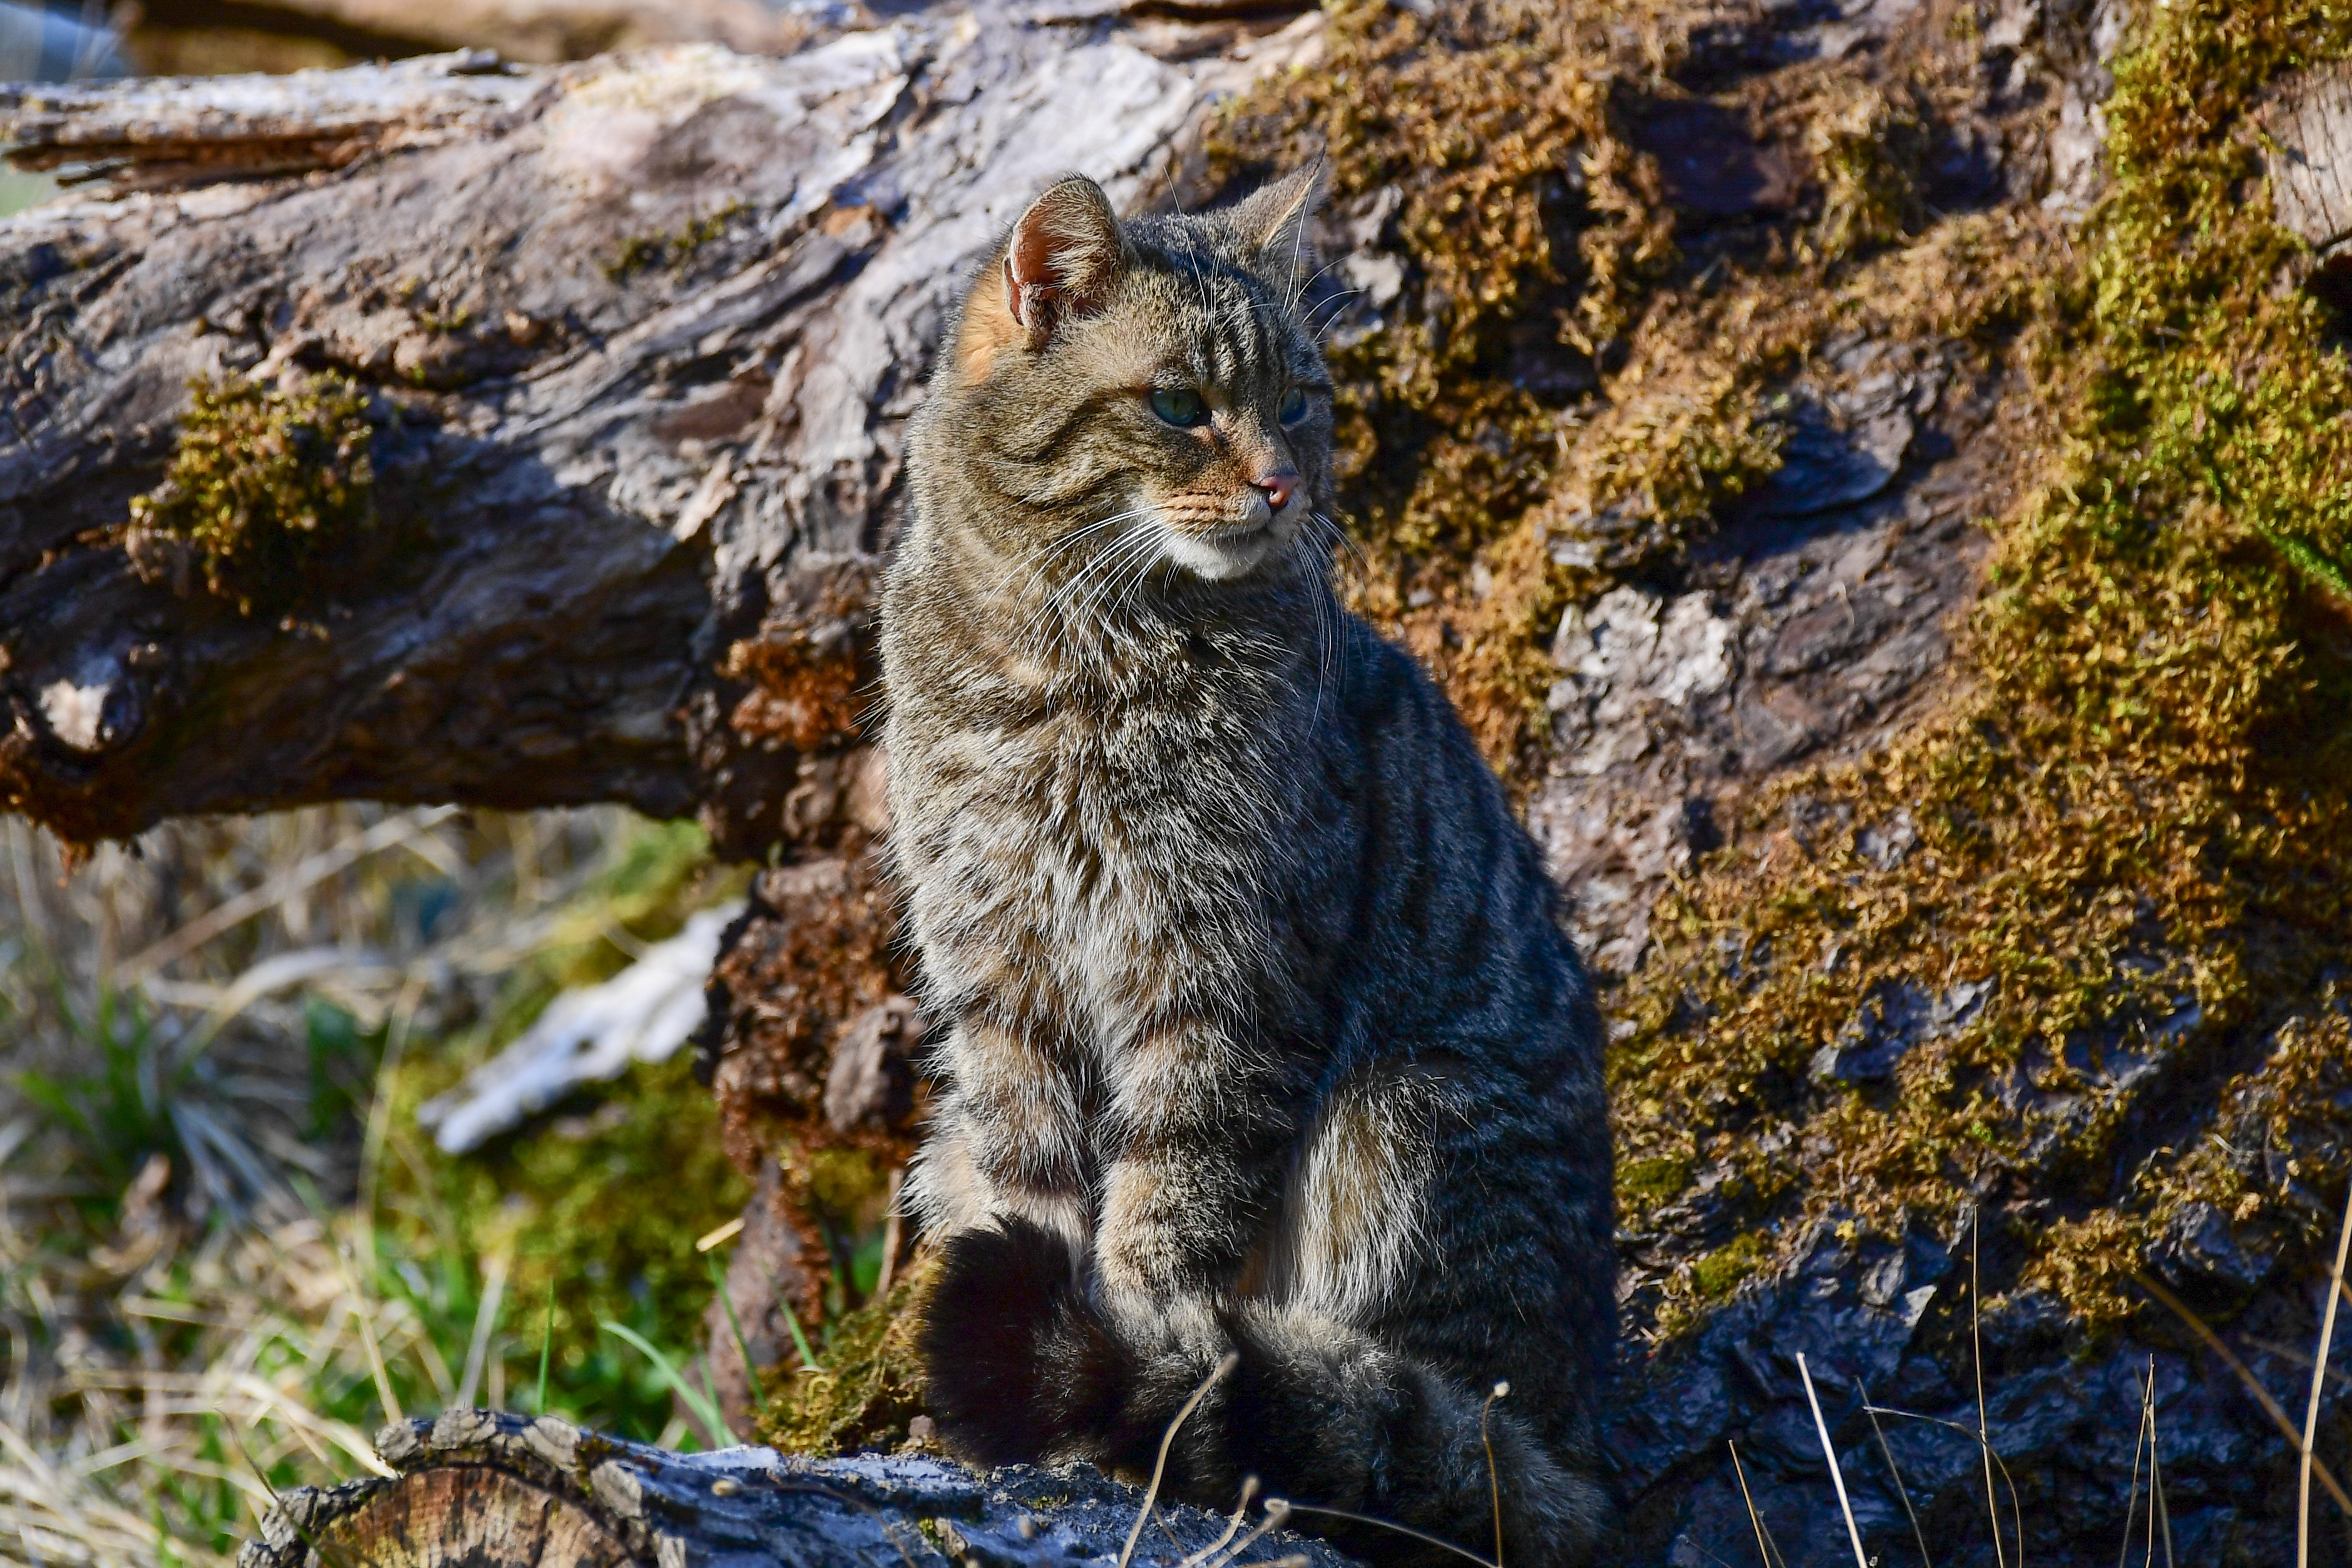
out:
<path id="1" fill-rule="evenodd" d="M 981 1465 L 1091 1460 L 1150 1472 L 1169 1422 L 1223 1354 L 1237 1366 L 1169 1448 L 1164 1486 L 1230 1507 L 1244 1474 L 1296 1523 L 1378 1563 L 1461 1556 L 1573 1568 L 1613 1521 L 1606 1490 L 1562 1465 L 1508 1403 L 1322 1314 L 1244 1302 L 1200 1324 L 1115 1324 L 1070 1246 L 1018 1220 L 950 1237 L 924 1321 L 929 1408 Z M 1491 1462 L 1489 1462 L 1491 1450 Z M 1338 1509 L 1381 1523 L 1359 1523 Z"/>

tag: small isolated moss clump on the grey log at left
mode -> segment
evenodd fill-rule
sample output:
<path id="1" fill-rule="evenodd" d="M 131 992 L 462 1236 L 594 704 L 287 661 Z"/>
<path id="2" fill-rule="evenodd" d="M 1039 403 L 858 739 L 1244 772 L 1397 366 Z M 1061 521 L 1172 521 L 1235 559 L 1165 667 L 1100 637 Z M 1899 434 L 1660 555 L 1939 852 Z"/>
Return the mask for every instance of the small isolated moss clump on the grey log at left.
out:
<path id="1" fill-rule="evenodd" d="M 376 527 L 367 395 L 341 376 L 280 390 L 191 381 L 162 484 L 132 501 L 141 576 L 280 614 L 332 588 Z"/>

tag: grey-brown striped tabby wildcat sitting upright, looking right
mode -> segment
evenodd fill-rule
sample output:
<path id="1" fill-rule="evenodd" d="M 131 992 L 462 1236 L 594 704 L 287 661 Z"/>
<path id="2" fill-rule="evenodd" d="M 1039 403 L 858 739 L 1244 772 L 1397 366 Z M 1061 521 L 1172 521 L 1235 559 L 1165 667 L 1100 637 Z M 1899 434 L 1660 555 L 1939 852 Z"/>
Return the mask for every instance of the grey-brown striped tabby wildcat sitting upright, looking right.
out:
<path id="1" fill-rule="evenodd" d="M 882 602 L 936 1051 L 929 1401 L 983 1465 L 1148 1469 L 1590 1561 L 1616 1333 L 1592 994 L 1444 696 L 1334 597 L 1310 181 L 1122 223 L 1065 179 L 908 433 Z M 1310 1526 L 1322 1521 L 1308 1519 Z M 1331 1526 L 1399 1561 L 1406 1535 Z M 1402 1552 L 1399 1552 L 1402 1547 Z"/>

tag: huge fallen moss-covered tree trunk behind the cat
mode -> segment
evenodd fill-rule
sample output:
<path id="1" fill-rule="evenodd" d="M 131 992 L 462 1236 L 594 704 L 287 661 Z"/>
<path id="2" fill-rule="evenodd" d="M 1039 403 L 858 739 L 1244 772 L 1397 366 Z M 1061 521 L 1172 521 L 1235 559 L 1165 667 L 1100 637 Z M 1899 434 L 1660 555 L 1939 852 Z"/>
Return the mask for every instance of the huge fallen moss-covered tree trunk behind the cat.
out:
<path id="1" fill-rule="evenodd" d="M 856 729 L 960 268 L 1065 165 L 1197 202 L 1319 132 L 1362 604 L 1512 773 L 1613 985 L 1625 1561 L 1740 1561 L 1750 1497 L 1835 1561 L 1811 1394 L 1886 1561 L 1910 1505 L 1938 1561 L 2006 1552 L 1978 1422 L 2004 1540 L 2103 1561 L 2145 1523 L 2143 1410 L 2183 1561 L 2281 1561 L 2293 1446 L 2136 1279 L 2307 1387 L 2352 1159 L 2352 731 L 2293 696 L 2352 686 L 2340 317 L 2298 289 L 2345 252 L 2319 24 L 1185 9 L 9 99 L 19 160 L 127 195 L 0 226 L 0 804 L 73 839 L 329 797 L 701 811 L 788 851 L 720 964 L 729 1140 L 816 1126 L 837 1044 L 913 1034 L 851 1027 L 906 992 Z M 1258 80 L 1244 150 L 1200 155 Z M 2239 374 L 2291 383 L 2253 435 L 2201 390 Z M 2305 837 L 2249 837 L 2281 816 Z M 828 1135 L 880 1164 L 906 1131 Z M 793 1199 L 760 1199 L 779 1255 Z M 1882 1441 L 1879 1401 L 1926 1420 Z M 2347 1420 L 2331 1385 L 2331 1462 Z"/>

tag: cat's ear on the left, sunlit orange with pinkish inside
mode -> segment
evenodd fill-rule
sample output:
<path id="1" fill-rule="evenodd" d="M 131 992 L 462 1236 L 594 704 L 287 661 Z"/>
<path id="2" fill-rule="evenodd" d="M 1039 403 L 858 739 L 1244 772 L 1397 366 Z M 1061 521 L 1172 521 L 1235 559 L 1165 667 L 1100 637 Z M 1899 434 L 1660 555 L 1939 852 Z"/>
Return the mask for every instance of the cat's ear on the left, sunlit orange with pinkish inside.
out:
<path id="1" fill-rule="evenodd" d="M 1030 202 L 964 303 L 955 341 L 964 386 L 983 381 L 1007 348 L 1037 353 L 1061 322 L 1096 310 L 1129 261 L 1110 197 L 1084 174 Z"/>

